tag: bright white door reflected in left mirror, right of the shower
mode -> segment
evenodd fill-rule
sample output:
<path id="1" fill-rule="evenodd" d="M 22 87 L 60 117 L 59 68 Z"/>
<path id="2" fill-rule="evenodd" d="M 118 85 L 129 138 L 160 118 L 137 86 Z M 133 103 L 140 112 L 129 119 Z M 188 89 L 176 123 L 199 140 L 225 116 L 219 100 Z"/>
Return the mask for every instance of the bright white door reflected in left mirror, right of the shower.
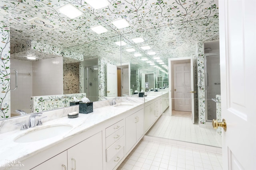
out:
<path id="1" fill-rule="evenodd" d="M 117 66 L 107 63 L 107 96 L 117 96 Z"/>

